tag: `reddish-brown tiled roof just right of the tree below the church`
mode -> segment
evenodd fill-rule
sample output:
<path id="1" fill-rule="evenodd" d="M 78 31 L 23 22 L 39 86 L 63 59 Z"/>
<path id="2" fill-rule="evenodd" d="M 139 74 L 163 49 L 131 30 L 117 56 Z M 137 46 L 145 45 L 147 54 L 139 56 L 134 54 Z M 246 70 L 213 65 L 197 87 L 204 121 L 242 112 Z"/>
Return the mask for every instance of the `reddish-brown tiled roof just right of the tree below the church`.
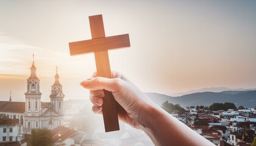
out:
<path id="1" fill-rule="evenodd" d="M 66 139 L 73 137 L 79 133 L 76 130 L 72 130 L 71 128 L 59 126 L 51 131 L 52 134 L 52 142 L 63 142 Z"/>

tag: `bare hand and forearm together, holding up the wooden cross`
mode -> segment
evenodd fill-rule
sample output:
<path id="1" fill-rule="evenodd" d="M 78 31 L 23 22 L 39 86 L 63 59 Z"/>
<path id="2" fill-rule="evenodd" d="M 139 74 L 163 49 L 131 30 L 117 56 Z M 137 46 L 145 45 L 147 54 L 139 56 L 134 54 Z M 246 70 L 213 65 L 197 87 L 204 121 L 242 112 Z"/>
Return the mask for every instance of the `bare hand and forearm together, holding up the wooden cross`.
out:
<path id="1" fill-rule="evenodd" d="M 90 90 L 93 112 L 102 114 L 104 92 L 111 91 L 115 100 L 123 106 L 118 118 L 130 126 L 143 130 L 155 145 L 214 145 L 160 106 L 155 105 L 124 75 L 113 72 L 112 78 L 93 77 L 80 83 Z"/>

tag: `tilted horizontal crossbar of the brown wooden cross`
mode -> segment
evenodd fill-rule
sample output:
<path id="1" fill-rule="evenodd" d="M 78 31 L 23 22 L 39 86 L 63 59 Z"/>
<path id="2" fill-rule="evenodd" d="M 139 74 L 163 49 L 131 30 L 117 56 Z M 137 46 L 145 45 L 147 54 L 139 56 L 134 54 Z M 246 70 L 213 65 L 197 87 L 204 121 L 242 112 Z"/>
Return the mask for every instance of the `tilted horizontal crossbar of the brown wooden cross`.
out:
<path id="1" fill-rule="evenodd" d="M 130 47 L 129 34 L 69 43 L 70 55 L 88 54 L 123 47 Z"/>

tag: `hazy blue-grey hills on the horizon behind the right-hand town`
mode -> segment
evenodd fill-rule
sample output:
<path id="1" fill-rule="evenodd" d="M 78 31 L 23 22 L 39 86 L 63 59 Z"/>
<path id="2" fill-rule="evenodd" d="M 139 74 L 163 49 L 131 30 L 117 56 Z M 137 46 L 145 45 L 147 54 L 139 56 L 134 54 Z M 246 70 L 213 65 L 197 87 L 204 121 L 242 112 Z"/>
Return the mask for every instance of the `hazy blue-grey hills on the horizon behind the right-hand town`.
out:
<path id="1" fill-rule="evenodd" d="M 162 105 L 168 100 L 173 104 L 180 104 L 183 107 L 204 105 L 209 106 L 212 103 L 232 102 L 238 107 L 243 105 L 246 108 L 256 106 L 256 90 L 255 91 L 222 91 L 222 92 L 196 92 L 179 97 L 166 96 L 158 93 L 146 93 L 148 97 L 157 105 Z"/>

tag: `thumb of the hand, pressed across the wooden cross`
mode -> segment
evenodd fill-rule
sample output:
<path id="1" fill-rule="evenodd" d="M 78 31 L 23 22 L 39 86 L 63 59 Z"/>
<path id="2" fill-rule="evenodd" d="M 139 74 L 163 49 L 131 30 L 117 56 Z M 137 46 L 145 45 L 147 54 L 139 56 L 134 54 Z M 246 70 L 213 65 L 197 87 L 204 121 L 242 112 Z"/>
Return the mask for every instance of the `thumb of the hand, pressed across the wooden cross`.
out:
<path id="1" fill-rule="evenodd" d="M 119 78 L 94 77 L 84 80 L 80 85 L 90 90 L 105 89 L 110 92 L 116 92 L 120 87 L 120 82 Z"/>

